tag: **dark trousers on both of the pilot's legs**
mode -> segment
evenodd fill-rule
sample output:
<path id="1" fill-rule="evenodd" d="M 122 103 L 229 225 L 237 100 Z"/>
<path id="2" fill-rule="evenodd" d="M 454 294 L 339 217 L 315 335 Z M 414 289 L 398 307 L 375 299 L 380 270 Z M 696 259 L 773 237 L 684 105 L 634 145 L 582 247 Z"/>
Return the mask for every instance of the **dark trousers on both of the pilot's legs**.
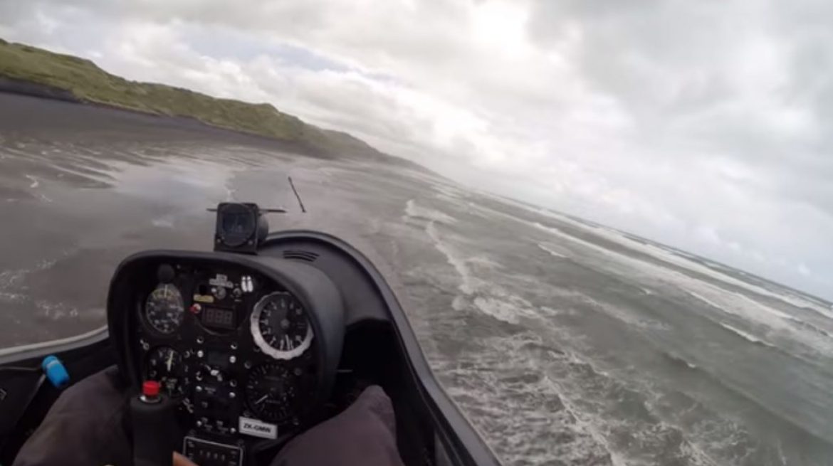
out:
<path id="1" fill-rule="evenodd" d="M 126 412 L 116 369 L 91 375 L 61 394 L 12 466 L 131 466 Z M 292 439 L 271 464 L 402 465 L 391 400 L 368 387 L 341 414 Z"/>

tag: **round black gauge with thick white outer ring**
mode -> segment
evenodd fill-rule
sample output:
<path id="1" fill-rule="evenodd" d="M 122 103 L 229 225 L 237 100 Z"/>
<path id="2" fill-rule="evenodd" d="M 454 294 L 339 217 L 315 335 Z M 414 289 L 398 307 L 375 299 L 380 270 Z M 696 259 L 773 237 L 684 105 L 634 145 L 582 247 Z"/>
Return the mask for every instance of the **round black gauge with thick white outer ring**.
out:
<path id="1" fill-rule="evenodd" d="M 312 343 L 312 325 L 303 306 L 286 292 L 257 301 L 250 319 L 252 338 L 264 354 L 275 359 L 297 358 Z"/>

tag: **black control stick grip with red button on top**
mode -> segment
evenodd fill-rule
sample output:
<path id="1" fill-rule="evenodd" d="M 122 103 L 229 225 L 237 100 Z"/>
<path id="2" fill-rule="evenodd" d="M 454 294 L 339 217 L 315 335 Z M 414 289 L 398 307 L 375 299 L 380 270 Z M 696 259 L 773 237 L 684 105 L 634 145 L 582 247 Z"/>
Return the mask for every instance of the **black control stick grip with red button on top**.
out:
<path id="1" fill-rule="evenodd" d="M 134 466 L 172 466 L 181 439 L 176 409 L 154 381 L 142 384 L 142 394 L 130 399 Z"/>

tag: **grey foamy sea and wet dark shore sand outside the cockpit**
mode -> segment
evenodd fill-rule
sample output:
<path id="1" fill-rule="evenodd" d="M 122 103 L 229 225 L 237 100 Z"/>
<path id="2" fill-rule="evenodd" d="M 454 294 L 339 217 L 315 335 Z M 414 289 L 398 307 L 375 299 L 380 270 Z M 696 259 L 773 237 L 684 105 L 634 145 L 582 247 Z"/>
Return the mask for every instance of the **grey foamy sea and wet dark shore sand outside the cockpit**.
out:
<path id="1" fill-rule="evenodd" d="M 123 256 L 209 249 L 229 200 L 375 260 L 504 464 L 833 461 L 830 303 L 420 171 L 2 95 L 0 342 L 102 325 Z"/>

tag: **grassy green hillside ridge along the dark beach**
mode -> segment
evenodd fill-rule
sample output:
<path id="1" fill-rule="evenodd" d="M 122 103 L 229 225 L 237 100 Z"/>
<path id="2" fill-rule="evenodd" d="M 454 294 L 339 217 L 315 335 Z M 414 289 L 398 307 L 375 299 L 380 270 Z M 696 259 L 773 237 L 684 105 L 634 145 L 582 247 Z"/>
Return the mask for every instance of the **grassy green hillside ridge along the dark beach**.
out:
<path id="1" fill-rule="evenodd" d="M 268 103 L 220 99 L 179 87 L 128 81 L 83 58 L 0 39 L 0 79 L 3 78 L 35 84 L 44 87 L 44 94 L 62 94 L 79 102 L 194 118 L 211 126 L 294 142 L 318 155 L 392 161 L 422 168 L 377 151 L 347 133 L 307 124 Z"/>

